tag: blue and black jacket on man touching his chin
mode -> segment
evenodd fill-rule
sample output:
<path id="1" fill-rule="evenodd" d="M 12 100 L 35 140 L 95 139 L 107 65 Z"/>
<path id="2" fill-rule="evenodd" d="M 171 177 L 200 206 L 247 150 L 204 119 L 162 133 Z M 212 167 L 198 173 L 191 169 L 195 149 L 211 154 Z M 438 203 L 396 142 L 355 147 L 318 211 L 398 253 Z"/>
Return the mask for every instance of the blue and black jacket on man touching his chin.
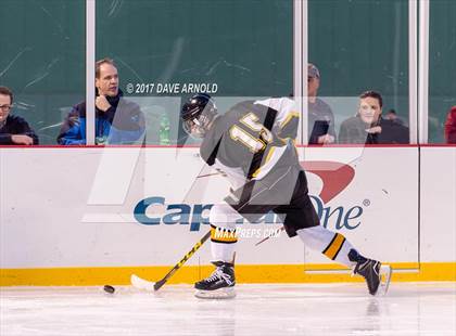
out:
<path id="1" fill-rule="evenodd" d="M 121 99 L 122 91 L 115 98 L 107 98 L 111 107 L 103 112 L 96 107 L 97 144 L 142 143 L 145 122 L 138 104 Z M 65 118 L 58 143 L 63 145 L 86 144 L 86 102 L 75 105 Z"/>

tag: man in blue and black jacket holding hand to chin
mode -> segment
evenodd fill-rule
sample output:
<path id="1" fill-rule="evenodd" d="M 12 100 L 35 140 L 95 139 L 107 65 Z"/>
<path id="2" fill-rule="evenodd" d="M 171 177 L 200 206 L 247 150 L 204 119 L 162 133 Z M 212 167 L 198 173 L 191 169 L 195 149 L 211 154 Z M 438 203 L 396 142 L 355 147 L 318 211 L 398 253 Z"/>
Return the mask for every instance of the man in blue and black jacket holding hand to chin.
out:
<path id="1" fill-rule="evenodd" d="M 139 105 L 123 99 L 113 60 L 96 64 L 96 143 L 125 144 L 142 141 L 144 116 Z M 65 118 L 59 144 L 86 144 L 86 102 L 75 105 Z"/>

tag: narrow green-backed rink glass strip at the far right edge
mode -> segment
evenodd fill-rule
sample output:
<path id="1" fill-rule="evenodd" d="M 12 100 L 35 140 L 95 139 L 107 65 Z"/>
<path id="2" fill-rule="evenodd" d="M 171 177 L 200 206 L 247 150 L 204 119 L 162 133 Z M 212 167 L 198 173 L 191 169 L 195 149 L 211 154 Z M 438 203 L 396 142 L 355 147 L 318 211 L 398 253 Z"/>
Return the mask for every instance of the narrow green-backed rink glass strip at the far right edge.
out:
<path id="1" fill-rule="evenodd" d="M 429 143 L 442 143 L 456 105 L 456 2 L 431 1 L 429 13 Z"/>

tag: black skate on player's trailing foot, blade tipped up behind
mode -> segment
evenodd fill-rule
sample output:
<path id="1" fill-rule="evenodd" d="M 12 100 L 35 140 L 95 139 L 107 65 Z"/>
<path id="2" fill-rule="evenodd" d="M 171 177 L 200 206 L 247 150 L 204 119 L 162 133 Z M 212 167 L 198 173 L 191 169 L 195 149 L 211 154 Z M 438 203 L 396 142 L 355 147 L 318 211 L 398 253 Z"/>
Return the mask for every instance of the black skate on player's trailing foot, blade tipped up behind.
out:
<path id="1" fill-rule="evenodd" d="M 366 280 L 370 295 L 378 294 L 380 285 L 382 285 L 382 294 L 387 294 L 392 273 L 390 266 L 382 266 L 380 261 L 367 259 L 354 249 L 350 250 L 349 259 L 356 261 L 353 274 L 359 274 Z M 382 281 L 382 275 L 384 275 L 384 281 Z"/>

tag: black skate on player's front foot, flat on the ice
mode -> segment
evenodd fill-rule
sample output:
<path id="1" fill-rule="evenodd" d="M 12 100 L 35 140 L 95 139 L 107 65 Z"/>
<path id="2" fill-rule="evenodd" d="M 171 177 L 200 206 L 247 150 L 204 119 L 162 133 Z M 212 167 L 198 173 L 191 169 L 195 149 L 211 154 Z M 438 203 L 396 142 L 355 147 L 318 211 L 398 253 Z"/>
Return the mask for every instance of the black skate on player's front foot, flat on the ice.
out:
<path id="1" fill-rule="evenodd" d="M 215 261 L 215 271 L 211 276 L 194 284 L 198 298 L 232 298 L 235 293 L 235 268 L 232 263 Z"/>

